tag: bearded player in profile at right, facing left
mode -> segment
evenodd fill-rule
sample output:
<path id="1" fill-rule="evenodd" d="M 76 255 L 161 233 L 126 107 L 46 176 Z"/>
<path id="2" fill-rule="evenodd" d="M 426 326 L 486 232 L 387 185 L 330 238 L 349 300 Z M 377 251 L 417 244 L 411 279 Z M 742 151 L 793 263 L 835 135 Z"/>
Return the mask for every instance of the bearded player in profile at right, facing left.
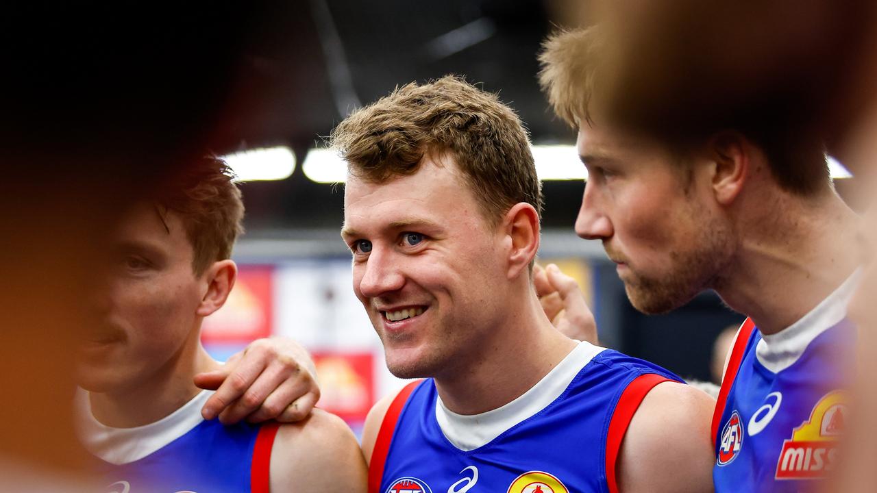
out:
<path id="1" fill-rule="evenodd" d="M 588 168 L 576 232 L 602 240 L 640 311 L 714 289 L 750 316 L 713 420 L 715 486 L 805 489 L 836 462 L 856 217 L 833 189 L 822 143 L 781 112 L 646 132 L 607 111 L 614 81 L 600 29 L 561 33 L 541 55 L 541 82 L 578 130 Z"/>

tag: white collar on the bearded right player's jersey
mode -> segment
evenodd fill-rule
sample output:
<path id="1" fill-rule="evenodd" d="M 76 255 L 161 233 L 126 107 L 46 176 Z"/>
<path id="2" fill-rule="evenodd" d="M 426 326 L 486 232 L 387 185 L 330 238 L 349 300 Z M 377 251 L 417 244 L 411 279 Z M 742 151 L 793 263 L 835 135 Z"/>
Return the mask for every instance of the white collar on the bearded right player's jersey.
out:
<path id="1" fill-rule="evenodd" d="M 775 334 L 761 334 L 755 347 L 759 362 L 774 373 L 795 364 L 810 341 L 846 317 L 846 305 L 850 303 L 860 279 L 861 268 L 857 268 L 838 289 L 797 322 Z"/>

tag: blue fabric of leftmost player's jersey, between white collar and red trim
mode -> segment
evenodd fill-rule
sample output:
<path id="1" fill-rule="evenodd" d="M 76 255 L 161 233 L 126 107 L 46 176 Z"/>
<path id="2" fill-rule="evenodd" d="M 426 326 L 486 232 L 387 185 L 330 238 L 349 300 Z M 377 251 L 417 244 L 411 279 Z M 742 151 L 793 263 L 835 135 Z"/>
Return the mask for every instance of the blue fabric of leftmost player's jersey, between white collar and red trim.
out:
<path id="1" fill-rule="evenodd" d="M 203 421 L 138 461 L 119 465 L 101 461 L 98 474 L 110 491 L 118 493 L 125 493 L 126 485 L 130 493 L 249 492 L 259 432 L 260 425 Z"/>

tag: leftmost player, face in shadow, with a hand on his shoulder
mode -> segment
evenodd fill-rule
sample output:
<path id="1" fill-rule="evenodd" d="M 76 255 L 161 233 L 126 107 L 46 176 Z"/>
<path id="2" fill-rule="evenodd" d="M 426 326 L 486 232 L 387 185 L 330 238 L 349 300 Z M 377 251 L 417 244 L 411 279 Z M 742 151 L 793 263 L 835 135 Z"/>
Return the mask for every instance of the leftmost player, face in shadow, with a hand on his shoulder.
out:
<path id="1" fill-rule="evenodd" d="M 77 348 L 79 432 L 113 491 L 364 489 L 353 433 L 315 411 L 295 425 L 204 420 L 217 370 L 200 343 L 228 297 L 243 204 L 225 163 L 204 158 L 127 211 L 109 235 L 94 325 Z"/>

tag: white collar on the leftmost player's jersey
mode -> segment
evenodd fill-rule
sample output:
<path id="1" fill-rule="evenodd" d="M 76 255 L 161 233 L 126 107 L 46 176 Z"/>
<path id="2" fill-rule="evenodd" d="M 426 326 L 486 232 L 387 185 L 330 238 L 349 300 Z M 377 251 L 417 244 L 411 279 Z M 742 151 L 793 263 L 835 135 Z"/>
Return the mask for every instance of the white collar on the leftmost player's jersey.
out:
<path id="1" fill-rule="evenodd" d="M 91 412 L 89 392 L 76 389 L 76 434 L 82 445 L 103 461 L 127 464 L 153 454 L 201 424 L 201 408 L 213 392 L 202 390 L 168 416 L 148 425 L 113 428 L 103 425 Z"/>

